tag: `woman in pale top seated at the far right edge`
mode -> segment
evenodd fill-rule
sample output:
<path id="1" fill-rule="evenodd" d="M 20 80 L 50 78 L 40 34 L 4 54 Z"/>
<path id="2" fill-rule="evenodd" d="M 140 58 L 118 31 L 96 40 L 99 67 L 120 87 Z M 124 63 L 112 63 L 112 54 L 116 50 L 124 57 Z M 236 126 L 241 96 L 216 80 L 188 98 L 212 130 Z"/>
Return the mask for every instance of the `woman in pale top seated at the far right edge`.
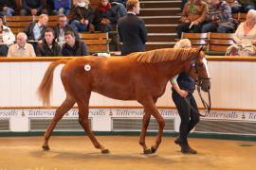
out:
<path id="1" fill-rule="evenodd" d="M 227 49 L 229 56 L 255 56 L 256 55 L 256 10 L 250 9 L 247 20 L 241 23 L 233 37 L 235 44 Z"/>

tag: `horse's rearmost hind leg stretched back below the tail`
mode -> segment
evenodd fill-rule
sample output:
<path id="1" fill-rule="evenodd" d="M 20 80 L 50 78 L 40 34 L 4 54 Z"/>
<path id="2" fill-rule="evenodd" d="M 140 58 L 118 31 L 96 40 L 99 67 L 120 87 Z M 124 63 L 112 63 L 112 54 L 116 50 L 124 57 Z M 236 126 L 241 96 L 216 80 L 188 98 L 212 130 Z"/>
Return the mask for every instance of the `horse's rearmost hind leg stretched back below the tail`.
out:
<path id="1" fill-rule="evenodd" d="M 50 138 L 50 135 L 51 135 L 54 127 L 63 118 L 64 114 L 74 106 L 75 103 L 76 103 L 76 101 L 74 98 L 72 98 L 71 96 L 66 96 L 63 104 L 56 110 L 56 113 L 55 113 L 53 119 L 51 120 L 50 125 L 46 129 L 45 143 L 42 146 L 44 150 L 49 150 L 48 140 Z"/>

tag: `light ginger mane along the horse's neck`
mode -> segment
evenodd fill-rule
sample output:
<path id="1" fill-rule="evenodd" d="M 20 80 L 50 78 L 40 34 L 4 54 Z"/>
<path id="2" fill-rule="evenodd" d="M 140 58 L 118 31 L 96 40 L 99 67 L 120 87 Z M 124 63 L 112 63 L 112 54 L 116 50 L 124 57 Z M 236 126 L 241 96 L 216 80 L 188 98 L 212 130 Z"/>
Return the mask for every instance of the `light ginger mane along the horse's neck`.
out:
<path id="1" fill-rule="evenodd" d="M 129 54 L 127 57 L 136 59 L 137 62 L 161 62 L 168 60 L 187 60 L 198 52 L 196 48 L 163 48 L 146 52 L 136 52 Z"/>

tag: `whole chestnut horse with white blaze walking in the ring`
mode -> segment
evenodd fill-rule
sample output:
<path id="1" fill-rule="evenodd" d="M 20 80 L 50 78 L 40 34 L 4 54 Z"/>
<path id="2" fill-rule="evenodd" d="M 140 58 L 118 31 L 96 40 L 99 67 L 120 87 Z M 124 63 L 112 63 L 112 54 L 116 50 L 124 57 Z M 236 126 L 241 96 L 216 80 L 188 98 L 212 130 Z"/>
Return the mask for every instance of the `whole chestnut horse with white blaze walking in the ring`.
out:
<path id="1" fill-rule="evenodd" d="M 87 133 L 92 144 L 101 153 L 109 150 L 101 145 L 88 125 L 89 99 L 91 92 L 119 100 L 137 100 L 144 107 L 143 126 L 139 144 L 145 154 L 154 153 L 161 143 L 164 119 L 155 107 L 155 102 L 166 89 L 168 81 L 182 73 L 189 73 L 195 80 L 203 78 L 202 90 L 210 90 L 210 76 L 207 61 L 201 49 L 157 49 L 148 52 L 137 52 L 126 57 L 84 57 L 61 59 L 52 62 L 38 88 L 39 97 L 44 105 L 50 104 L 53 72 L 57 65 L 64 63 L 61 78 L 66 93 L 62 105 L 56 110 L 55 116 L 46 129 L 43 149 L 48 150 L 50 135 L 64 114 L 75 103 L 79 108 L 79 123 Z M 153 115 L 159 128 L 155 144 L 148 148 L 145 135 L 150 117 Z"/>

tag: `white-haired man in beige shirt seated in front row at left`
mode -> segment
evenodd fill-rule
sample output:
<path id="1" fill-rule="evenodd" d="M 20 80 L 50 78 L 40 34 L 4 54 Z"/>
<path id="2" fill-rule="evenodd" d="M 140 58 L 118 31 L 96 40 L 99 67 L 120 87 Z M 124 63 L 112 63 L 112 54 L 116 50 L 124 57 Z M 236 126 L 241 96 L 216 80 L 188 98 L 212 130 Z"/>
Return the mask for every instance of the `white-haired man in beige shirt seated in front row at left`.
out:
<path id="1" fill-rule="evenodd" d="M 36 57 L 33 46 L 27 43 L 27 35 L 19 32 L 16 43 L 9 46 L 8 57 Z"/>

